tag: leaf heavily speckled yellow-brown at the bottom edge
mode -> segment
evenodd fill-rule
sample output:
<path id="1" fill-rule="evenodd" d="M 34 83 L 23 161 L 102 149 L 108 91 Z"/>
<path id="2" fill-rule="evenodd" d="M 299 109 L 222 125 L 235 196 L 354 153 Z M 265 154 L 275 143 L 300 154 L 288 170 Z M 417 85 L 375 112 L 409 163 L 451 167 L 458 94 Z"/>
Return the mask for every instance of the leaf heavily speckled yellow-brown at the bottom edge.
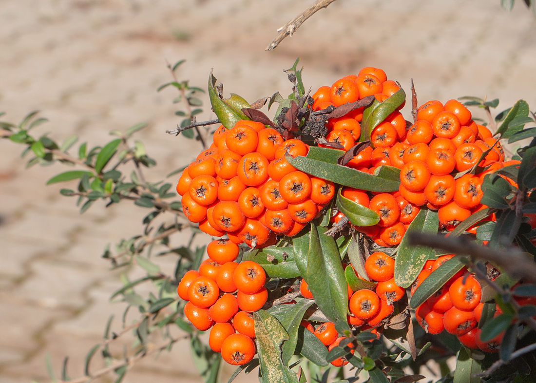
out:
<path id="1" fill-rule="evenodd" d="M 253 313 L 262 383 L 297 383 L 296 374 L 281 359 L 281 344 L 288 340 L 285 328 L 264 310 Z"/>

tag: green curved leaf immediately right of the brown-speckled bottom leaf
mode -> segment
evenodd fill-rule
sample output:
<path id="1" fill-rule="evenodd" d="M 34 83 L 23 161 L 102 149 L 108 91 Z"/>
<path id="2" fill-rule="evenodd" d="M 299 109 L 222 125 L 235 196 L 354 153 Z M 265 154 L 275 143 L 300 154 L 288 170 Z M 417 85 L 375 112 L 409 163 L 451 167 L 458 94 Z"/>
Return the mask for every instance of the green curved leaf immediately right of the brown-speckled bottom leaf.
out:
<path id="1" fill-rule="evenodd" d="M 306 310 L 312 303 L 312 301 L 302 299 L 302 301 L 293 305 L 281 304 L 272 306 L 268 310 L 268 312 L 276 317 L 276 319 L 279 320 L 279 323 L 285 327 L 288 334 L 289 339 L 283 343 L 281 354 L 285 366 L 288 365 L 288 362 L 294 355 L 294 350 L 296 349 L 298 341 L 300 322 L 303 319 Z"/>

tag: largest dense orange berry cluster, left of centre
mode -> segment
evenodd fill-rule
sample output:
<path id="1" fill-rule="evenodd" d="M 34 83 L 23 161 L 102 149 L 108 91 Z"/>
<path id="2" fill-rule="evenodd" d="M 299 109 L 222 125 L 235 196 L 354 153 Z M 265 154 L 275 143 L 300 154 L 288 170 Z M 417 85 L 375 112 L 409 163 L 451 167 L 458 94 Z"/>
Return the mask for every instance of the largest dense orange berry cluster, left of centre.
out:
<path id="1" fill-rule="evenodd" d="M 332 182 L 296 170 L 285 154 L 307 144 L 284 140 L 262 123 L 241 120 L 214 132 L 214 143 L 184 169 L 177 184 L 184 214 L 204 232 L 235 244 L 264 247 L 292 237 L 331 201 Z"/>

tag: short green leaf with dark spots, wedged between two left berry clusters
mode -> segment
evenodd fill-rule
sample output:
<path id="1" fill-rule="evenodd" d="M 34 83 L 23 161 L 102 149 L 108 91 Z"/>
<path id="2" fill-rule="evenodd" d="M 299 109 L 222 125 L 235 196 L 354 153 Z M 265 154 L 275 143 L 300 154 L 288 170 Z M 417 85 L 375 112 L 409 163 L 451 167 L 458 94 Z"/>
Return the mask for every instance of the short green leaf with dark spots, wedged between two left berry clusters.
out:
<path id="1" fill-rule="evenodd" d="M 257 262 L 270 278 L 294 278 L 301 275 L 294 261 L 292 247 L 264 247 L 257 252 L 244 253 L 242 260 Z"/>

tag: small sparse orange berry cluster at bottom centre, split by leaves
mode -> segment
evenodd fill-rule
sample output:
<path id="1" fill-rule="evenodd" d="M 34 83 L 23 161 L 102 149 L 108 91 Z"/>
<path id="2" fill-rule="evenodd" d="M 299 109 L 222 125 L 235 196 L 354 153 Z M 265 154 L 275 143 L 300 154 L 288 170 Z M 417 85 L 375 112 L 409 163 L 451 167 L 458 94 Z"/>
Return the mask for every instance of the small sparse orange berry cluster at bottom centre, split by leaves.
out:
<path id="1" fill-rule="evenodd" d="M 394 282 L 394 259 L 383 252 L 370 254 L 364 264 L 365 271 L 371 280 L 376 282 L 374 290 L 360 289 L 353 291 L 348 286 L 348 310 L 352 315 L 347 316 L 348 324 L 360 331 L 370 330 L 376 336 L 381 335 L 382 325 L 385 324 L 394 312 L 394 302 L 402 299 L 406 290 Z M 312 299 L 307 282 L 301 280 L 300 292 L 304 298 Z M 316 328 L 306 320 L 302 326 L 315 334 L 319 340 L 331 350 L 338 346 L 345 337 L 339 337 L 332 322 L 325 322 Z M 350 351 L 353 354 L 353 350 Z M 347 364 L 344 358 L 337 358 L 331 364 L 340 367 Z"/>

